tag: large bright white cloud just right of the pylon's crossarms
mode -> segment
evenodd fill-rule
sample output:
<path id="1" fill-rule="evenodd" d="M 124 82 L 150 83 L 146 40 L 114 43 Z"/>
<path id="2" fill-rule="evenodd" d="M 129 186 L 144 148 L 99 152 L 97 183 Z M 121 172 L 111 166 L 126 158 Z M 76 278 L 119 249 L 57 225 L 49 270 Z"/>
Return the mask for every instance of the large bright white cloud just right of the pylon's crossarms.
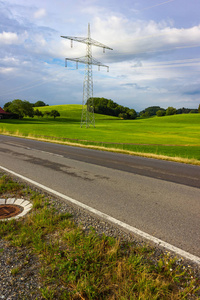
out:
<path id="1" fill-rule="evenodd" d="M 95 18 L 94 35 L 98 40 L 114 49 L 113 60 L 129 60 L 130 55 L 145 57 L 150 52 L 171 50 L 175 47 L 192 47 L 199 44 L 200 25 L 191 28 L 170 27 L 166 22 L 130 21 L 110 16 Z M 118 57 L 117 57 L 118 55 Z"/>

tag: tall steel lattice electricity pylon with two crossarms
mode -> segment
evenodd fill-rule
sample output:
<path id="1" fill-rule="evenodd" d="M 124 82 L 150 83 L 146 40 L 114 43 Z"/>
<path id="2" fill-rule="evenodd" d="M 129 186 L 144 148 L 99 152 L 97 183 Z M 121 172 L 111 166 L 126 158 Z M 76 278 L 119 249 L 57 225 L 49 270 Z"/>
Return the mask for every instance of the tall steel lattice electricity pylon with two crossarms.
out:
<path id="1" fill-rule="evenodd" d="M 82 102 L 82 116 L 81 116 L 81 127 L 85 124 L 89 127 L 90 124 L 95 127 L 94 118 L 94 103 L 93 103 L 93 76 L 92 76 L 92 65 L 97 65 L 99 67 L 106 67 L 107 72 L 109 72 L 109 67 L 103 65 L 101 62 L 97 61 L 92 57 L 92 46 L 97 46 L 105 49 L 113 50 L 112 48 L 99 43 L 91 38 L 90 35 L 90 24 L 88 24 L 88 36 L 87 37 L 73 37 L 73 36 L 61 36 L 62 38 L 71 40 L 71 47 L 73 47 L 73 41 L 86 44 L 86 55 L 78 58 L 65 58 L 65 66 L 67 67 L 67 61 L 75 61 L 76 68 L 78 69 L 78 63 L 85 64 L 85 76 L 83 82 L 83 102 Z"/>

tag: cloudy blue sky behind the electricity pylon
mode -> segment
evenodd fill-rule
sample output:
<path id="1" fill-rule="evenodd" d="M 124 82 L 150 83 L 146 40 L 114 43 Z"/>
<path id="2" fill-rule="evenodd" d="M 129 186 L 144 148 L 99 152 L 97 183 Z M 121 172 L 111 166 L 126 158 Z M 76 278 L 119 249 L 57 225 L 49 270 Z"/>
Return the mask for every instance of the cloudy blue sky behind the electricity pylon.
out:
<path id="1" fill-rule="evenodd" d="M 14 99 L 82 104 L 85 65 L 65 58 L 92 47 L 93 95 L 141 111 L 198 108 L 200 0 L 0 0 L 0 106 Z"/>

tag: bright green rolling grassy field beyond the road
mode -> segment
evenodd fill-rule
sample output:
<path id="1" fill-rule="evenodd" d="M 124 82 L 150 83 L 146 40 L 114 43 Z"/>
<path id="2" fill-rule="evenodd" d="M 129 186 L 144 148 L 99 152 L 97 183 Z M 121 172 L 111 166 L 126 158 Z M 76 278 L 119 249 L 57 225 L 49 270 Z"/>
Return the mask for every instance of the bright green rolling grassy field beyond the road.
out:
<path id="1" fill-rule="evenodd" d="M 57 105 L 60 117 L 0 120 L 0 133 L 54 139 L 104 148 L 182 158 L 200 163 L 200 114 L 182 114 L 148 119 L 121 120 L 95 115 L 96 128 L 80 128 L 81 105 Z M 148 155 L 146 155 L 148 156 Z"/>

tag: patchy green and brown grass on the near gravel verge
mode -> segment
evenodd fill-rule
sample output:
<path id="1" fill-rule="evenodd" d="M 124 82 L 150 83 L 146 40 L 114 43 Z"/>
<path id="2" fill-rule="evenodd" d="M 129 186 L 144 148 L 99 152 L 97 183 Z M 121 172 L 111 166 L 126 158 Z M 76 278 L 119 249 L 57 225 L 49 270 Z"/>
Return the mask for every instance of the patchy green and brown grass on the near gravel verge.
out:
<path id="1" fill-rule="evenodd" d="M 85 233 L 45 195 L 0 175 L 0 197 L 16 194 L 29 197 L 33 210 L 17 221 L 0 222 L 0 236 L 38 256 L 41 299 L 198 299 L 192 268 L 169 253 L 158 256 L 154 248 L 98 236 L 92 228 Z"/>

